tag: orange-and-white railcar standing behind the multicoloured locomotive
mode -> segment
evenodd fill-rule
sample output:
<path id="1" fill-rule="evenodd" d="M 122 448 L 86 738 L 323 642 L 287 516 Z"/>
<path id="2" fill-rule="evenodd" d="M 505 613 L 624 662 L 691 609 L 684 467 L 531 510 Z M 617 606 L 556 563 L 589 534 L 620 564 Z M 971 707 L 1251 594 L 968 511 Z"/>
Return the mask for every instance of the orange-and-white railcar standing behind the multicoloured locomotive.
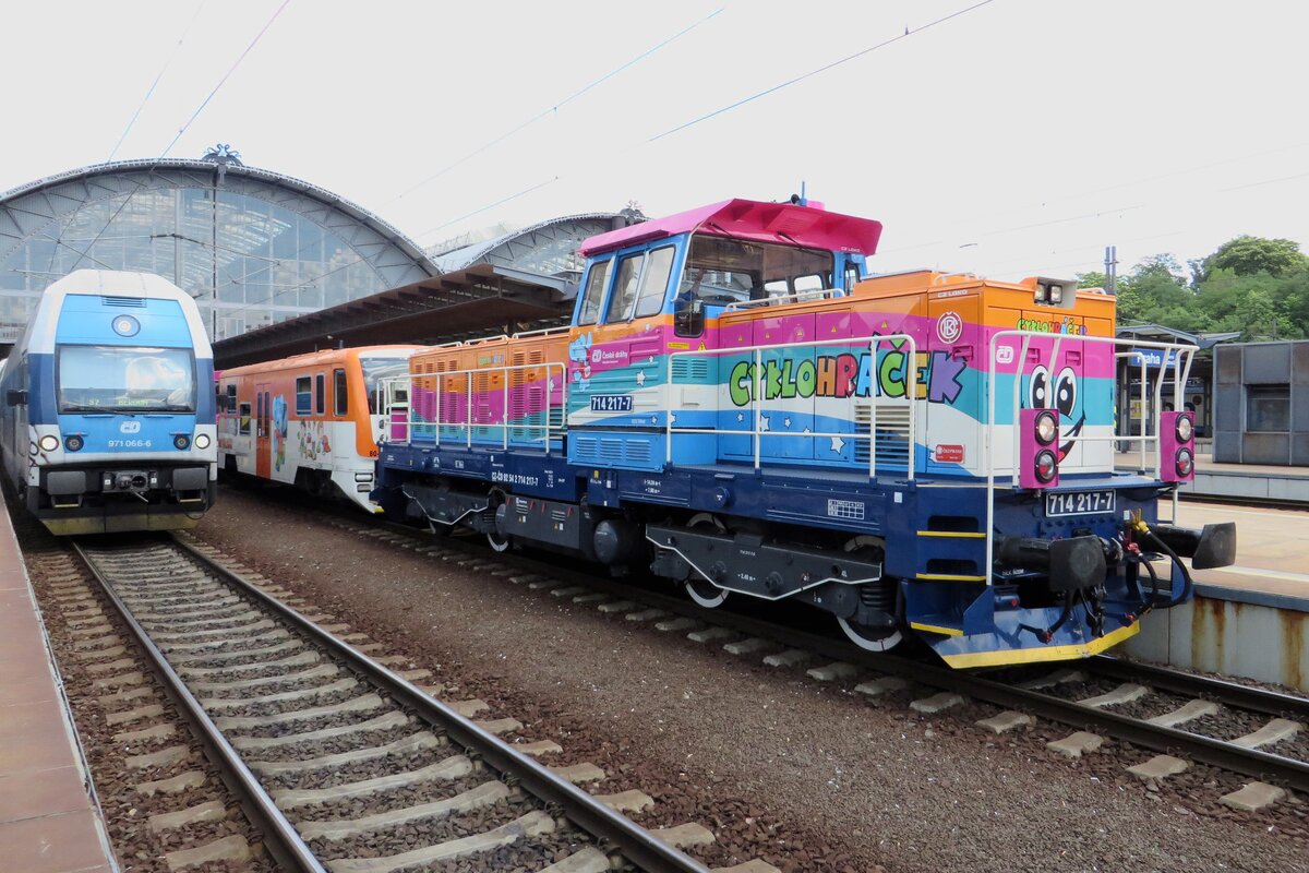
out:
<path id="1" fill-rule="evenodd" d="M 406 389 L 395 377 L 420 348 L 342 348 L 223 370 L 215 385 L 219 463 L 378 512 L 368 496 L 377 441 L 389 418 L 406 420 Z M 380 385 L 390 394 L 378 395 Z"/>

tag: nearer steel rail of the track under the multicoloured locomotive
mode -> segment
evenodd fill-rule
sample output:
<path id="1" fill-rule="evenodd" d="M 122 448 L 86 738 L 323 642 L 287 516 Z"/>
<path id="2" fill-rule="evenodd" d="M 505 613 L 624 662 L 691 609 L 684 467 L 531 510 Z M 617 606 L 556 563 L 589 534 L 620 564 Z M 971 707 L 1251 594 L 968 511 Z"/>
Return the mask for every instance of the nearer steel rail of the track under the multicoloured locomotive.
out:
<path id="1" fill-rule="evenodd" d="M 406 525 L 385 520 L 370 521 L 395 531 L 407 531 L 416 539 L 425 538 L 425 534 L 416 527 L 408 527 Z M 471 543 L 461 543 L 454 538 L 445 538 L 433 542 L 466 550 L 469 554 L 482 554 L 480 548 L 474 547 Z M 864 666 L 869 670 L 885 673 L 888 675 L 897 675 L 942 691 L 953 691 L 956 694 L 1007 709 L 1021 709 L 1049 719 L 1050 721 L 1056 721 L 1077 729 L 1105 732 L 1115 739 L 1131 742 L 1153 751 L 1181 751 L 1192 760 L 1200 763 L 1212 764 L 1215 767 L 1247 776 L 1271 777 L 1272 780 L 1282 781 L 1296 791 L 1309 791 L 1309 763 L 1296 760 L 1293 758 L 1284 758 L 1282 755 L 1274 755 L 1257 749 L 1246 749 L 1221 739 L 1213 739 L 1211 737 L 1203 737 L 1186 730 L 1178 730 L 1177 728 L 1153 725 L 1148 721 L 1131 719 L 1115 712 L 1085 707 L 1075 700 L 1066 700 L 1054 695 L 1041 694 L 1039 691 L 1020 688 L 995 679 L 987 679 L 986 677 L 975 673 L 961 673 L 949 668 L 936 666 L 920 661 L 910 661 L 899 656 L 868 652 L 844 640 L 826 637 L 796 628 L 788 628 L 767 619 L 742 615 L 740 613 L 729 613 L 721 609 L 703 609 L 679 597 L 660 594 L 647 588 L 588 575 L 581 569 L 556 567 L 537 558 L 497 554 L 496 559 L 505 563 L 520 564 L 525 571 L 531 569 L 534 572 L 550 573 L 555 577 L 567 577 L 590 588 L 607 590 L 618 597 L 623 597 L 624 599 L 641 601 L 677 615 L 700 619 L 703 622 L 726 627 L 749 636 L 768 637 L 784 645 L 804 648 L 836 661 L 846 661 Z M 1103 661 L 1114 660 L 1103 658 Z M 1093 669 L 1098 669 L 1101 662 L 1088 660 L 1086 664 L 1092 664 L 1094 665 Z M 1105 669 L 1107 670 L 1109 668 L 1106 666 Z M 1225 685 L 1234 686 L 1234 683 Z M 1160 687 L 1164 686 L 1161 685 Z M 1182 683 L 1178 681 L 1177 688 L 1181 687 Z M 1267 698 L 1264 695 L 1275 694 L 1263 692 L 1257 688 L 1247 688 L 1246 691 L 1249 692 L 1246 698 L 1250 700 L 1271 702 L 1272 698 Z M 1279 698 L 1296 700 L 1296 698 L 1289 695 L 1279 695 Z M 1264 709 L 1259 711 L 1264 712 Z"/>

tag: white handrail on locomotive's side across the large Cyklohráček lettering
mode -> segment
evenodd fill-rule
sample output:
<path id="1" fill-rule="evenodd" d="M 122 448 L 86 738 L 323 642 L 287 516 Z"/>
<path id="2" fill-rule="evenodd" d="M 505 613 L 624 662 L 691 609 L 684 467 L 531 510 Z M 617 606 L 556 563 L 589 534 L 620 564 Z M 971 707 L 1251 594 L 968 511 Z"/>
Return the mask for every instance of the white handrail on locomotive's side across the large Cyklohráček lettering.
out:
<path id="1" fill-rule="evenodd" d="M 673 462 L 673 433 L 713 433 L 713 435 L 733 435 L 733 436 L 749 436 L 751 438 L 751 445 L 754 449 L 754 469 L 758 470 L 761 466 L 761 444 L 764 435 L 779 436 L 771 431 L 763 428 L 763 410 L 759 407 L 759 394 L 762 393 L 762 386 L 766 380 L 763 372 L 762 361 L 763 352 L 775 351 L 780 348 L 818 348 L 822 346 L 847 346 L 863 343 L 868 346 L 869 353 L 872 353 L 873 360 L 877 360 L 877 348 L 882 343 L 894 343 L 895 346 L 908 344 L 910 360 L 916 359 L 918 343 L 908 334 L 885 334 L 880 336 L 843 336 L 839 339 L 822 339 L 822 340 L 801 340 L 795 343 L 761 343 L 758 346 L 736 346 L 732 348 L 692 348 L 678 352 L 669 352 L 668 356 L 668 381 L 669 387 L 673 386 L 673 364 L 678 357 L 691 357 L 691 356 L 711 356 L 711 355 L 742 355 L 746 352 L 753 352 L 754 355 L 754 372 L 751 376 L 751 391 L 750 391 L 750 414 L 754 420 L 754 427 L 750 429 L 724 429 L 724 428 L 687 428 L 687 427 L 673 427 L 673 416 L 668 415 L 664 423 L 664 444 L 665 444 L 665 463 Z M 915 397 L 918 394 L 918 366 L 907 365 L 905 368 L 905 397 L 902 401 L 890 401 L 894 406 L 905 406 L 908 408 L 908 433 L 906 437 L 906 457 L 905 457 L 905 470 L 908 480 L 914 479 L 914 471 L 918 466 L 918 407 L 915 407 Z M 812 433 L 796 433 L 785 435 L 795 437 L 808 437 L 810 440 L 826 440 L 826 438 L 842 438 L 842 440 L 868 440 L 868 476 L 873 478 L 877 475 L 877 397 L 869 397 L 869 423 L 868 433 L 856 432 L 812 432 Z M 668 404 L 665 404 L 668 406 Z"/>

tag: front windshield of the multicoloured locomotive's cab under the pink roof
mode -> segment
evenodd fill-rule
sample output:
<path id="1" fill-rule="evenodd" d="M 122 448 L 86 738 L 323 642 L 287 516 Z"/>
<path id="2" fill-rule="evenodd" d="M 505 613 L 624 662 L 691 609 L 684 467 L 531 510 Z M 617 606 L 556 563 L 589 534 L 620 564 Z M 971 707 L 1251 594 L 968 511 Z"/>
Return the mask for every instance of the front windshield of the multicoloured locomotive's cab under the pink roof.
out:
<path id="1" fill-rule="evenodd" d="M 831 268 L 822 249 L 695 234 L 678 301 L 726 306 L 831 288 Z"/>

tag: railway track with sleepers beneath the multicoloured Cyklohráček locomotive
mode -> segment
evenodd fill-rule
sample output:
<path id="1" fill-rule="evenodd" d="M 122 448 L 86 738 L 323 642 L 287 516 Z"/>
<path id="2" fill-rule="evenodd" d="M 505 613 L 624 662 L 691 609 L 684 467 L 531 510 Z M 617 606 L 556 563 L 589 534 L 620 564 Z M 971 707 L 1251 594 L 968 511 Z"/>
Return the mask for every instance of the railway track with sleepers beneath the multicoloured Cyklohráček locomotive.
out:
<path id="1" fill-rule="evenodd" d="M 940 691 L 936 700 L 924 702 L 922 707 L 919 702 L 911 703 L 922 711 L 935 712 L 937 707 L 948 708 L 963 700 L 992 704 L 1004 711 L 1004 717 L 986 726 L 997 732 L 1030 724 L 1028 717 L 1068 725 L 1085 734 L 1073 734 L 1055 746 L 1069 757 L 1093 751 L 1105 737 L 1161 753 L 1152 762 L 1153 767 L 1138 774 L 1143 779 L 1155 779 L 1156 774 L 1158 779 L 1175 775 L 1178 767 L 1191 760 L 1267 780 L 1274 789 L 1309 792 L 1306 698 L 1106 656 L 1066 669 L 1046 665 L 1039 670 L 959 673 L 936 664 L 867 652 L 840 637 L 797 630 L 770 618 L 704 609 L 681 597 L 598 577 L 585 569 L 559 567 L 541 558 L 491 554 L 469 538 L 433 541 L 423 531 L 381 520 L 342 518 L 336 524 L 369 535 L 423 542 L 419 547 L 437 558 L 491 558 L 504 567 L 534 572 L 556 582 L 538 581 L 535 586 L 577 589 L 575 596 L 579 598 L 610 594 L 619 603 L 630 603 L 630 618 L 644 613 L 651 619 L 664 619 L 662 627 L 689 631 L 698 644 L 734 647 L 734 653 L 763 656 L 770 664 L 783 666 L 808 666 L 818 658 L 829 660 L 810 674 L 829 681 L 846 679 L 865 694 L 882 695 L 914 686 Z M 601 602 L 594 602 L 600 607 Z M 682 626 L 677 619 L 695 624 Z M 874 675 L 869 678 L 868 674 Z M 856 678 L 865 681 L 856 683 Z M 1173 758 L 1174 754 L 1181 758 Z"/>

